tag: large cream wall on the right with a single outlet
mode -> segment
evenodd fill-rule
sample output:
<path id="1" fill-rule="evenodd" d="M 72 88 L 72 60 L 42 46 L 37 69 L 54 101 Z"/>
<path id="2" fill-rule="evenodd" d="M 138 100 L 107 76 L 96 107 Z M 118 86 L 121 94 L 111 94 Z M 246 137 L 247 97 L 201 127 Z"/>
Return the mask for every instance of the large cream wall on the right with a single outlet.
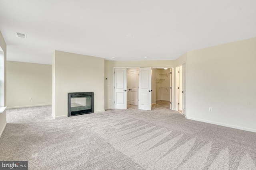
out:
<path id="1" fill-rule="evenodd" d="M 256 38 L 188 51 L 187 116 L 256 132 Z"/>

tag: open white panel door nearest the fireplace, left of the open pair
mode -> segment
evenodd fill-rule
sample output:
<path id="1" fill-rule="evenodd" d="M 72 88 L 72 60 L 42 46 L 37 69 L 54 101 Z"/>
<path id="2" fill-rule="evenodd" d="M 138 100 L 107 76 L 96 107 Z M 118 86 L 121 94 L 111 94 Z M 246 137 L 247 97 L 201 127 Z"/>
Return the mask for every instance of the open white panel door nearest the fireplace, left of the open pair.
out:
<path id="1" fill-rule="evenodd" d="M 127 69 L 114 70 L 114 108 L 127 109 Z"/>

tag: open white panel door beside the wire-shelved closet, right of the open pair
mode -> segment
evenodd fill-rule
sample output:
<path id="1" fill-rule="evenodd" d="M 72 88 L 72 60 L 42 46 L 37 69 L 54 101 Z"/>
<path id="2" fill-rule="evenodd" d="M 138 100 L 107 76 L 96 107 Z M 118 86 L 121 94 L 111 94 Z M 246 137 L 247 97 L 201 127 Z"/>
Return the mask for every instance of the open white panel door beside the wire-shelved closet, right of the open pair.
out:
<path id="1" fill-rule="evenodd" d="M 151 67 L 139 68 L 139 109 L 151 110 Z"/>

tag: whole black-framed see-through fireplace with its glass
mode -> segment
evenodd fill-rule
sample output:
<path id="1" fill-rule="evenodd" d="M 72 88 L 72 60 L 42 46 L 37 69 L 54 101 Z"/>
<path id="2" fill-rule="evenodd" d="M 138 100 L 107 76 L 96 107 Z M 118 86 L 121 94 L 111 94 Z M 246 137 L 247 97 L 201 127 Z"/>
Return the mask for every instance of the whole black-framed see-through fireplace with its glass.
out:
<path id="1" fill-rule="evenodd" d="M 93 92 L 68 93 L 68 116 L 93 113 Z"/>

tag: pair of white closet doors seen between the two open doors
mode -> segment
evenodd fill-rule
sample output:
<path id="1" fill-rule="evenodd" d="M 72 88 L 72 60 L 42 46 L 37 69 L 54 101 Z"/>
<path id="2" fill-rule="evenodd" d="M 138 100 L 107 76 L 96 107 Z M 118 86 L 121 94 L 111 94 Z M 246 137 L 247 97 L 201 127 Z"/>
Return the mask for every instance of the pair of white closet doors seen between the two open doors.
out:
<path id="1" fill-rule="evenodd" d="M 127 104 L 138 106 L 139 70 L 127 70 Z"/>

